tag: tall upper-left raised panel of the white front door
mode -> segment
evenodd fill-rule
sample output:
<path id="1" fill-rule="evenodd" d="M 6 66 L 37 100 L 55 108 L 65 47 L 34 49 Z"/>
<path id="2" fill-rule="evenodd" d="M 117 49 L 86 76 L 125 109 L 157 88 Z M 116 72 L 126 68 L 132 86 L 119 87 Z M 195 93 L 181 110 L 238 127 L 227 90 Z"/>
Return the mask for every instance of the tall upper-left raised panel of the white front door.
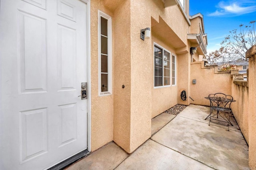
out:
<path id="1" fill-rule="evenodd" d="M 20 92 L 45 92 L 46 20 L 22 11 L 18 15 Z"/>

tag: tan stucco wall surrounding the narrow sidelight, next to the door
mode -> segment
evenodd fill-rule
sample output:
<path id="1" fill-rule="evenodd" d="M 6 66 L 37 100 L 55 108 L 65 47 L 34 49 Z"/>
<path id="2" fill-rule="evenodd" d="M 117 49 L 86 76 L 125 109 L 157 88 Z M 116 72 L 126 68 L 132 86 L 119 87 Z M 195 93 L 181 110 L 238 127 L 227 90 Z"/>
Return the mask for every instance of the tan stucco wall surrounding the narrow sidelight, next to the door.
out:
<path id="1" fill-rule="evenodd" d="M 98 10 L 113 13 L 101 0 L 91 1 L 91 150 L 113 140 L 113 95 L 98 96 Z M 113 77 L 114 78 L 114 77 Z"/>

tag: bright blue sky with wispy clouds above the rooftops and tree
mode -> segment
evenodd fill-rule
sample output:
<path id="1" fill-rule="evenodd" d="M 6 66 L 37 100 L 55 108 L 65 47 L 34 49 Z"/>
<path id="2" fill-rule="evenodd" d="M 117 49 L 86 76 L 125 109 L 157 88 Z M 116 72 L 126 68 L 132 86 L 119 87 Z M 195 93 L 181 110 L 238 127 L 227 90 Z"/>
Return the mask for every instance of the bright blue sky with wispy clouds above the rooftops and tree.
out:
<path id="1" fill-rule="evenodd" d="M 190 0 L 190 15 L 199 12 L 204 16 L 209 54 L 220 48 L 229 31 L 256 20 L 256 0 Z"/>

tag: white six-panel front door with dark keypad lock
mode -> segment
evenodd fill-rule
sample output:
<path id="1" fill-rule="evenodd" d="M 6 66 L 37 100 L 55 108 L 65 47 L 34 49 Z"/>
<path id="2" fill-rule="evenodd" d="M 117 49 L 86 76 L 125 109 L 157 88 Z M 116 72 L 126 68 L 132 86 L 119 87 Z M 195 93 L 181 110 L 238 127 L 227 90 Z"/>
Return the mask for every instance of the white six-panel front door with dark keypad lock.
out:
<path id="1" fill-rule="evenodd" d="M 47 169 L 87 149 L 87 5 L 0 1 L 1 170 Z"/>

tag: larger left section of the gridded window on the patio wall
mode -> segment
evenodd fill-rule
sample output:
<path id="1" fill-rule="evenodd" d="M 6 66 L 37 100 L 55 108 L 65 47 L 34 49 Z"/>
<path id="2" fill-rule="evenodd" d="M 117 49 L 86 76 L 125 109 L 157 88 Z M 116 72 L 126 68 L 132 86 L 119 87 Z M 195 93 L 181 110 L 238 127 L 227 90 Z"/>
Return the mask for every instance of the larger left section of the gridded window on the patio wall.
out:
<path id="1" fill-rule="evenodd" d="M 170 52 L 154 45 L 154 86 L 170 85 Z"/>

